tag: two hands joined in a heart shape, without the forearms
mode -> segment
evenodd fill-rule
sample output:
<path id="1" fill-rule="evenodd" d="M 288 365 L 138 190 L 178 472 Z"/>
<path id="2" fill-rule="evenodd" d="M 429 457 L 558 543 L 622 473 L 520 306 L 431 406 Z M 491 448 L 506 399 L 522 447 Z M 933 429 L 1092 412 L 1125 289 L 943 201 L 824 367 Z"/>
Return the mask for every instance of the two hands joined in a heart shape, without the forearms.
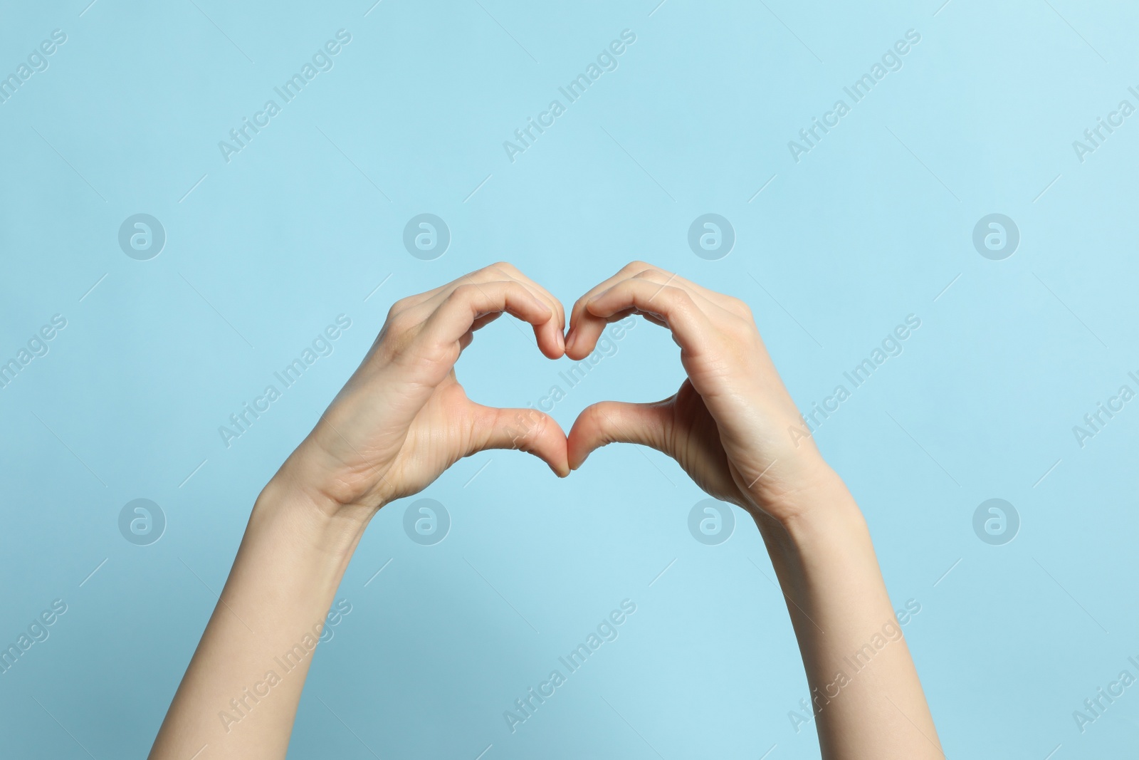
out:
<path id="1" fill-rule="evenodd" d="M 454 362 L 475 332 L 503 313 L 532 326 L 547 358 L 575 361 L 595 351 L 611 322 L 644 318 L 671 333 L 687 377 L 654 403 L 593 403 L 568 434 L 532 407 L 476 403 Z M 743 301 L 634 261 L 577 299 L 567 318 L 549 291 L 497 263 L 392 305 L 290 472 L 333 504 L 370 508 L 421 491 L 486 449 L 527 451 L 565 477 L 595 449 L 623 442 L 669 455 L 710 496 L 751 508 L 764 489 L 794 489 L 787 477 L 812 474 L 804 455 L 817 453 L 813 441 L 808 434 L 800 448 L 787 436 L 800 426 Z"/>

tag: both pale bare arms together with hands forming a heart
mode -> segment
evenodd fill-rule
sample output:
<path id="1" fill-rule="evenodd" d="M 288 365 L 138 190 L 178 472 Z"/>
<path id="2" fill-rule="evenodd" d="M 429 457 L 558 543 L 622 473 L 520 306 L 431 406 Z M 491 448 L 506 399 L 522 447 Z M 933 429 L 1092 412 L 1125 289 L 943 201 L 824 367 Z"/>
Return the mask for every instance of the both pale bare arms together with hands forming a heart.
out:
<path id="1" fill-rule="evenodd" d="M 568 436 L 533 409 L 477 404 L 453 366 L 475 330 L 502 313 L 530 322 L 546 357 L 575 360 L 608 322 L 639 314 L 671 332 L 687 379 L 656 403 L 593 404 Z M 392 307 L 360 367 L 259 496 L 153 760 L 285 757 L 312 654 L 272 686 L 265 673 L 319 632 L 384 505 L 477 451 L 521 449 L 565 477 L 614 442 L 671 456 L 708 495 L 755 520 L 787 599 L 826 760 L 944 757 L 904 638 L 857 673 L 845 660 L 896 624 L 894 610 L 858 505 L 813 441 L 789 434 L 802 430 L 798 411 L 747 305 L 633 262 L 579 299 L 566 326 L 558 300 L 507 263 Z M 246 689 L 268 695 L 254 701 Z M 245 709 L 233 711 L 235 698 Z M 223 710 L 240 720 L 222 721 Z"/>

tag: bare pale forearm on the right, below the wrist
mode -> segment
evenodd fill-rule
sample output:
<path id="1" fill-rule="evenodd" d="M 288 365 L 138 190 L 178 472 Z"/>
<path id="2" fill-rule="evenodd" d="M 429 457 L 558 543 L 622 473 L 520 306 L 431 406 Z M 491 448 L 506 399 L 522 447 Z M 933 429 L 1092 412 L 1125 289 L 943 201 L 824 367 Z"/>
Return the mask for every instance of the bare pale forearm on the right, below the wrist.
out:
<path id="1" fill-rule="evenodd" d="M 761 532 L 787 598 L 826 760 L 942 758 L 933 718 L 853 497 L 829 469 Z"/>

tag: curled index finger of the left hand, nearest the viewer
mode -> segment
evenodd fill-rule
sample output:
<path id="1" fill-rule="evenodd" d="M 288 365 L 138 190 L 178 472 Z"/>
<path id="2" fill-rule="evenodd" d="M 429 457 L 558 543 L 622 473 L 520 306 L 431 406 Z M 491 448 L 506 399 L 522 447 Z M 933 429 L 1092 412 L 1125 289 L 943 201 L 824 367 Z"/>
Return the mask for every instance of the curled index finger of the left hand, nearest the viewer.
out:
<path id="1" fill-rule="evenodd" d="M 419 338 L 434 348 L 453 345 L 482 317 L 506 312 L 535 327 L 555 319 L 552 310 L 516 280 L 459 285 L 424 322 Z M 551 359 L 562 350 L 549 333 L 539 341 L 542 353 Z"/>

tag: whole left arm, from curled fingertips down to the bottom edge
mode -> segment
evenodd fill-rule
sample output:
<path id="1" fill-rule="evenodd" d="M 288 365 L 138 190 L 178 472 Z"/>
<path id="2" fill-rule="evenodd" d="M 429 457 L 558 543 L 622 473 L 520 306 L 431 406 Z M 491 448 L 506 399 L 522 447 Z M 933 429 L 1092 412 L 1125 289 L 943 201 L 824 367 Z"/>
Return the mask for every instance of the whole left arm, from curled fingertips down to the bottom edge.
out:
<path id="1" fill-rule="evenodd" d="M 485 449 L 524 449 L 568 472 L 552 417 L 477 404 L 454 375 L 474 330 L 502 313 L 531 324 L 547 357 L 564 353 L 560 304 L 506 263 L 392 305 L 360 367 L 257 498 L 151 759 L 189 760 L 206 745 L 200 760 L 285 757 L 333 596 L 383 505 Z M 519 436 L 522 415 L 541 424 Z"/>

